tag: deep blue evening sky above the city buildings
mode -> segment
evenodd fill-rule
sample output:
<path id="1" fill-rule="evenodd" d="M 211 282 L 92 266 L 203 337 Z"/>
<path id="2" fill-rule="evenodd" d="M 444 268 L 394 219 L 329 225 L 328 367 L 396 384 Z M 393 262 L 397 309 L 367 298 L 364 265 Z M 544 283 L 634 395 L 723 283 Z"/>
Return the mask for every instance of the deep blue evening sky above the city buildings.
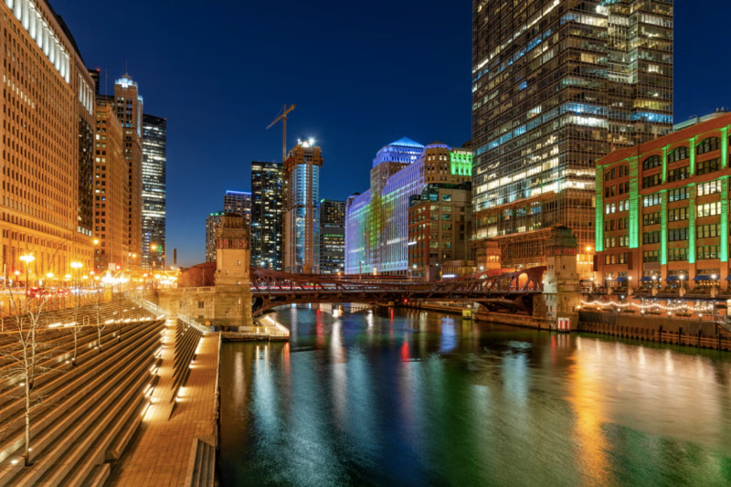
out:
<path id="1" fill-rule="evenodd" d="M 376 151 L 403 136 L 471 138 L 467 0 L 52 3 L 89 68 L 111 86 L 126 62 L 145 112 L 167 118 L 168 255 L 184 266 L 204 260 L 223 193 L 250 189 L 250 162 L 281 160 L 281 125 L 264 129 L 285 103 L 289 145 L 323 147 L 323 197 L 367 189 Z M 731 106 L 731 3 L 695 4 L 675 5 L 676 122 Z"/>

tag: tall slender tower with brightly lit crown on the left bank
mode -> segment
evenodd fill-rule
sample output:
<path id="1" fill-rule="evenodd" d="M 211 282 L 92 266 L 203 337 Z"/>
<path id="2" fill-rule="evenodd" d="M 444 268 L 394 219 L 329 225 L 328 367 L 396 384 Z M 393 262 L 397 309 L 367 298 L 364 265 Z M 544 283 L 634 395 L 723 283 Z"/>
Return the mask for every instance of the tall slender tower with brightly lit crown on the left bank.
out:
<path id="1" fill-rule="evenodd" d="M 143 244 L 143 97 L 137 83 L 128 74 L 114 83 L 114 103 L 117 118 L 122 123 L 124 159 L 130 164 L 126 218 L 127 245 L 130 247 L 128 263 L 140 265 Z"/>

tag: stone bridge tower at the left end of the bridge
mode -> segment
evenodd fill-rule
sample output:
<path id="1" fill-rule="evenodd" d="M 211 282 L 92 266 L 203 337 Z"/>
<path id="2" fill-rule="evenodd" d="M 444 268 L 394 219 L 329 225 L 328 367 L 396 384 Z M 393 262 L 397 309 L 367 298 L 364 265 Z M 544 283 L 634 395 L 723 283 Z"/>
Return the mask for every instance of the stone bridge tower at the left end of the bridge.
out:
<path id="1" fill-rule="evenodd" d="M 251 326 L 249 228 L 235 213 L 221 217 L 216 236 L 216 298 L 213 323 Z"/>

